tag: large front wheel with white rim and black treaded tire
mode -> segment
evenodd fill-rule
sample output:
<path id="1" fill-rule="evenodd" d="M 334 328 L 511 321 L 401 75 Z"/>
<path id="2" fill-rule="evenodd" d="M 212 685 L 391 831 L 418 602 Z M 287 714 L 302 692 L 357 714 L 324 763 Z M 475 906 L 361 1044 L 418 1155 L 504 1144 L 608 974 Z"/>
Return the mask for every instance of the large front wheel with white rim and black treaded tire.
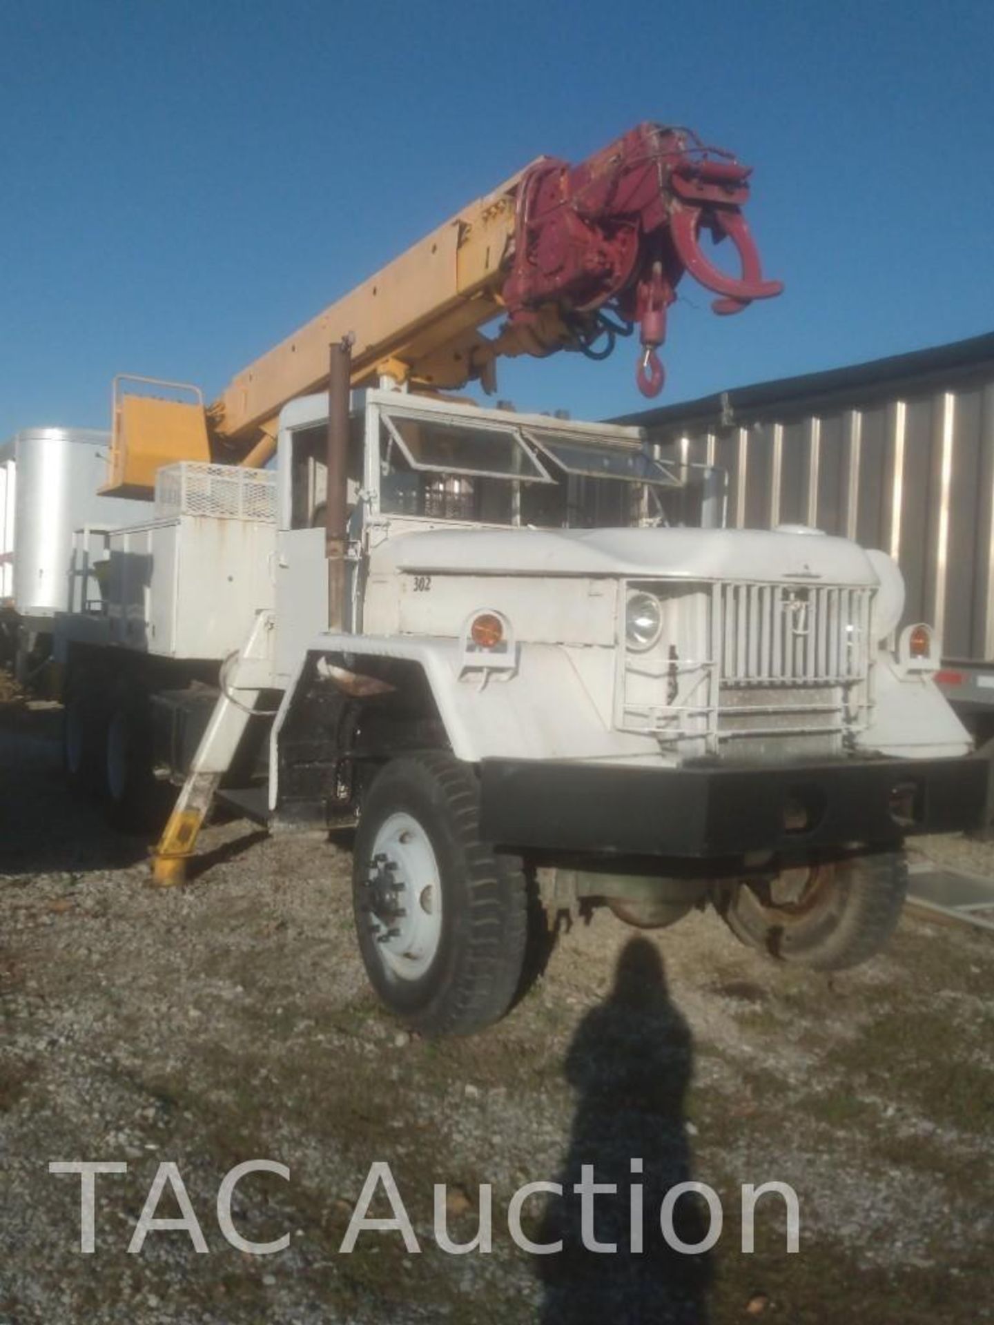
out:
<path id="1" fill-rule="evenodd" d="M 472 770 L 429 751 L 394 759 L 362 804 L 353 898 L 366 971 L 391 1012 L 424 1035 L 500 1020 L 522 977 L 521 860 L 480 840 Z"/>

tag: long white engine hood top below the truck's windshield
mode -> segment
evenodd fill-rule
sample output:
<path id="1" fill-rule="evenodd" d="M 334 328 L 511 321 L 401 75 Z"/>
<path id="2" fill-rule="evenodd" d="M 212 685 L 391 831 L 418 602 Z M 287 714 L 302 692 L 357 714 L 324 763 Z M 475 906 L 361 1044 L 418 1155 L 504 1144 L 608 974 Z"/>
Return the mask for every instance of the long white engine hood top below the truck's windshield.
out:
<path id="1" fill-rule="evenodd" d="M 433 529 L 390 538 L 378 568 L 425 575 L 624 575 L 876 584 L 856 543 L 815 530 Z M 384 567 L 386 568 L 386 567 Z"/>

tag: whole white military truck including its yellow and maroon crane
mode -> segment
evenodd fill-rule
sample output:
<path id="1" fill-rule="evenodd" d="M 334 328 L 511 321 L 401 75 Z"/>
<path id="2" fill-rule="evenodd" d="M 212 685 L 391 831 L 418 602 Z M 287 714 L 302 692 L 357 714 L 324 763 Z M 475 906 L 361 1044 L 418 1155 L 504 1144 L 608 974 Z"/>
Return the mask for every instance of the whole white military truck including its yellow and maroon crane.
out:
<path id="1" fill-rule="evenodd" d="M 155 506 L 58 624 L 65 754 L 122 819 L 182 782 L 160 882 L 217 794 L 274 828 L 358 824 L 366 967 L 432 1034 L 508 1010 L 539 902 L 635 925 L 713 904 L 820 969 L 885 941 L 904 836 L 978 823 L 986 790 L 929 629 L 891 639 L 896 566 L 798 526 L 679 527 L 684 472 L 637 427 L 444 398 L 636 326 L 657 394 L 684 277 L 724 315 L 782 289 L 749 175 L 639 125 L 537 159 L 207 408 L 118 379 L 103 490 Z M 717 513 L 720 476 L 693 474 Z"/>

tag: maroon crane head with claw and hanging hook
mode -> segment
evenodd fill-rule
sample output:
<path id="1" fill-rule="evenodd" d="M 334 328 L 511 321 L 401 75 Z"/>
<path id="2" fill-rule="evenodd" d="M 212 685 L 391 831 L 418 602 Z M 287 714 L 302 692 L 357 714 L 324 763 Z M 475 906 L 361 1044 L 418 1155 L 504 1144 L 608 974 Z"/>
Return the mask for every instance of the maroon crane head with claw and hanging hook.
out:
<path id="1" fill-rule="evenodd" d="M 725 315 L 783 289 L 763 278 L 742 213 L 750 174 L 690 130 L 652 123 L 579 166 L 535 162 L 517 188 L 513 258 L 501 292 L 510 326 L 524 334 L 551 307 L 571 338 L 566 347 L 586 350 L 604 327 L 608 335 L 618 330 L 606 314 L 627 327 L 637 322 L 644 352 L 636 380 L 644 395 L 657 395 L 664 372 L 656 348 L 684 273 L 718 295 L 712 307 Z M 737 274 L 705 256 L 704 232 L 716 244 L 730 240 Z"/>

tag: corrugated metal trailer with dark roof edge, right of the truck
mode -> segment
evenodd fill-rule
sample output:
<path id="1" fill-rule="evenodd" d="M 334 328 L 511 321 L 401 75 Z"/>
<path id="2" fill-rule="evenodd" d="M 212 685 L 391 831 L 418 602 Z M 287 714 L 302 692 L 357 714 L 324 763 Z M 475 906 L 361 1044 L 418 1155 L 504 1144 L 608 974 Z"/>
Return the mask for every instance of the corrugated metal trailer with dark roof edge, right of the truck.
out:
<path id="1" fill-rule="evenodd" d="M 804 525 L 887 551 L 899 629 L 932 623 L 936 682 L 994 737 L 994 334 L 641 411 L 677 466 L 713 465 L 729 529 Z"/>

